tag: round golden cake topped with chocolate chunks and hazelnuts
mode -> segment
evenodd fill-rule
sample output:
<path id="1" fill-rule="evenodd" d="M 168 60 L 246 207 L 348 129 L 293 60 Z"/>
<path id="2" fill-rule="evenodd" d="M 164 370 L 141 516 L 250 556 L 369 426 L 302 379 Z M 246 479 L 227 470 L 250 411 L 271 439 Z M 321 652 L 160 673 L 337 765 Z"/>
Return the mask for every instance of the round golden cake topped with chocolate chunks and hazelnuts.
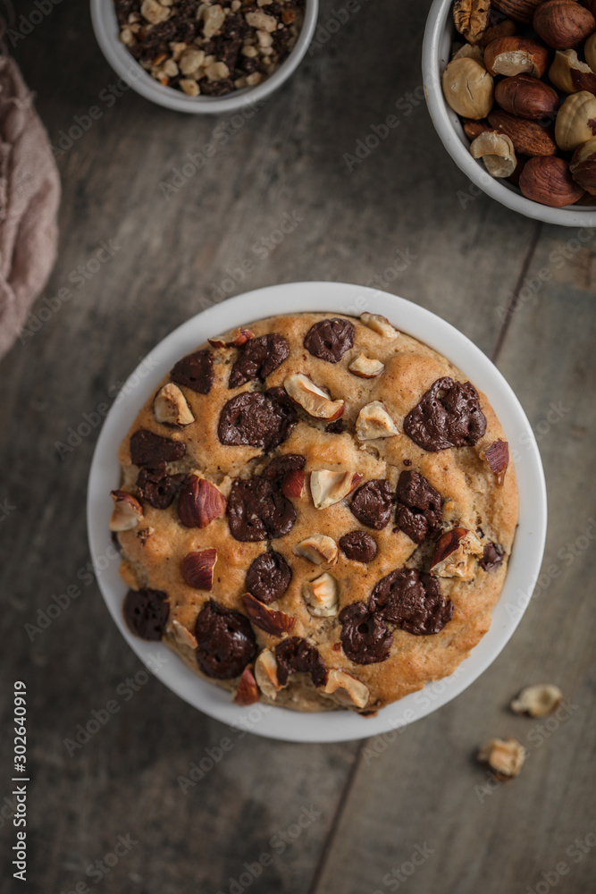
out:
<path id="1" fill-rule="evenodd" d="M 233 692 L 383 705 L 491 623 L 517 519 L 483 394 L 382 316 L 276 316 L 180 359 L 120 449 L 125 619 Z"/>

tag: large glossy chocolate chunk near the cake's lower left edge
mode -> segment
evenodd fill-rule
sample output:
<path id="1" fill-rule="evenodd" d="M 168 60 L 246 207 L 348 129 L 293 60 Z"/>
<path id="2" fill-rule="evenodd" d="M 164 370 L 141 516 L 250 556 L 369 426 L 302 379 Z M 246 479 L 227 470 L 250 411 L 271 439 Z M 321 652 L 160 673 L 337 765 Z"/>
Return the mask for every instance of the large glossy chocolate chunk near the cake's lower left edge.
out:
<path id="1" fill-rule="evenodd" d="M 246 615 L 210 599 L 195 628 L 198 666 L 207 677 L 239 677 L 256 656 L 256 639 Z"/>

